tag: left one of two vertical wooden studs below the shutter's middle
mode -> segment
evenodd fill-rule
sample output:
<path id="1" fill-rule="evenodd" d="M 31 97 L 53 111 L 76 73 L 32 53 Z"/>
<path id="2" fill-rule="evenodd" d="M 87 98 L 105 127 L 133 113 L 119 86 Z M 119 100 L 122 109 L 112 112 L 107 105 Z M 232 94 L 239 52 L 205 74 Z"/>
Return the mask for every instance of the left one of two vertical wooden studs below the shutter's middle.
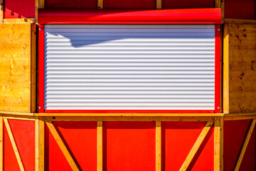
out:
<path id="1" fill-rule="evenodd" d="M 97 171 L 103 170 L 102 122 L 97 122 Z"/>

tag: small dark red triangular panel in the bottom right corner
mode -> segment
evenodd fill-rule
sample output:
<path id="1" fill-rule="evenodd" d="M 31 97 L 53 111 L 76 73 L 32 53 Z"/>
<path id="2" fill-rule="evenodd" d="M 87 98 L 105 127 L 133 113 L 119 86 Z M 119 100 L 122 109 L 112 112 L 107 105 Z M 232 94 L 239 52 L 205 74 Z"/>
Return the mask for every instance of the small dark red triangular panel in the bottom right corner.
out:
<path id="1" fill-rule="evenodd" d="M 255 129 L 252 132 L 249 144 L 245 151 L 245 155 L 240 165 L 240 170 L 255 171 L 256 170 L 256 151 L 255 151 Z"/>

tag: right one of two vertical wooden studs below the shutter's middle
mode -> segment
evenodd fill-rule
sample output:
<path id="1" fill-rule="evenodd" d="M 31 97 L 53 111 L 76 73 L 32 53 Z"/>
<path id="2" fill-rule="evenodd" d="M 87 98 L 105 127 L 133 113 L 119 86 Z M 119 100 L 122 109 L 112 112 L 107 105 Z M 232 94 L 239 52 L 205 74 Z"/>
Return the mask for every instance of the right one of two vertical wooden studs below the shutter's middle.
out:
<path id="1" fill-rule="evenodd" d="M 156 122 L 156 171 L 161 171 L 161 122 Z"/>

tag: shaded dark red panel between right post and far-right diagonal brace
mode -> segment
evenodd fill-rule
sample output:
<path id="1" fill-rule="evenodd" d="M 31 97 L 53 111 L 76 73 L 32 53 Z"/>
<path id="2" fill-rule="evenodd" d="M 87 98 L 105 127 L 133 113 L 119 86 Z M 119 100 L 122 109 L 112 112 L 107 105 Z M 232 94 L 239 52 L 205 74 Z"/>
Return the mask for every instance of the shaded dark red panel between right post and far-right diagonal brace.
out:
<path id="1" fill-rule="evenodd" d="M 225 121 L 224 123 L 224 170 L 232 171 L 238 159 L 250 120 Z M 254 151 L 255 152 L 255 151 Z"/>

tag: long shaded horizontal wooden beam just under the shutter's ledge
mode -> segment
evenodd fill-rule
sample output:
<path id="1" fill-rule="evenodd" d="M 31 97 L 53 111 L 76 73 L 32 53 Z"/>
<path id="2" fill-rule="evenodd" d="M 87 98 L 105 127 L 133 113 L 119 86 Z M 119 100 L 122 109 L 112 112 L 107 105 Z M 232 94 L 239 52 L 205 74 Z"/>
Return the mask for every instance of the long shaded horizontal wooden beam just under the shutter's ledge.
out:
<path id="1" fill-rule="evenodd" d="M 214 117 L 135 117 L 135 116 L 103 116 L 103 117 L 93 117 L 93 116 L 75 116 L 75 117 L 46 117 L 49 121 L 187 121 L 187 122 L 202 122 L 202 121 L 214 121 Z"/>

